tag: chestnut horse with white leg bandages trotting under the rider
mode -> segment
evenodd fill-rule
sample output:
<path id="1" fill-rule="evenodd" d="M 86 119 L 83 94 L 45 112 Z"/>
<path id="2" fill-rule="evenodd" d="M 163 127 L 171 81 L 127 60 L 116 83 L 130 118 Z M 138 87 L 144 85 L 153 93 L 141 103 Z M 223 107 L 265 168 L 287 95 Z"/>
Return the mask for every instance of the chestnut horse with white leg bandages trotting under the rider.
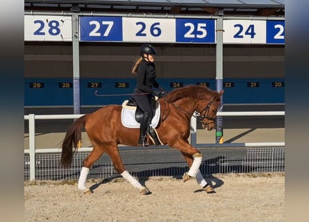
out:
<path id="1" fill-rule="evenodd" d="M 156 128 L 162 142 L 172 148 L 181 151 L 190 169 L 183 176 L 183 182 L 190 178 L 196 178 L 198 184 L 207 192 L 214 193 L 211 185 L 201 175 L 199 167 L 202 154 L 199 149 L 191 146 L 188 142 L 190 136 L 190 119 L 194 113 L 199 115 L 203 128 L 212 130 L 215 128 L 217 109 L 221 104 L 221 96 L 224 90 L 216 92 L 207 87 L 189 85 L 174 89 L 160 102 L 160 123 Z M 83 160 L 81 175 L 78 180 L 78 189 L 85 194 L 91 193 L 85 187 L 90 167 L 103 153 L 107 153 L 114 164 L 115 170 L 128 180 L 133 187 L 140 190 L 140 194 L 147 194 L 149 189 L 142 186 L 122 164 L 119 155 L 118 144 L 137 146 L 140 135 L 139 128 L 126 128 L 121 120 L 122 105 L 107 105 L 95 112 L 85 114 L 76 119 L 69 128 L 62 142 L 61 164 L 69 167 L 72 164 L 72 156 L 78 143 L 81 142 L 81 131 L 85 128 L 92 142 L 92 152 Z M 149 140 L 150 144 L 153 144 Z"/>

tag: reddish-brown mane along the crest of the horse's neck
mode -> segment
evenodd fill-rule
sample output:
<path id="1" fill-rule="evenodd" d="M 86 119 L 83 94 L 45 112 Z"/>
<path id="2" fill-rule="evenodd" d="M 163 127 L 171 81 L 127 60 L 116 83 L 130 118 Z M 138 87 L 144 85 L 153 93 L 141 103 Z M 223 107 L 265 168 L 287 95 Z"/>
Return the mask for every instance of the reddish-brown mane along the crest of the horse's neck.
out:
<path id="1" fill-rule="evenodd" d="M 169 92 L 165 98 L 169 103 L 173 103 L 178 101 L 178 99 L 183 99 L 185 97 L 199 100 L 209 100 L 212 99 L 212 97 L 215 97 L 215 100 L 220 99 L 218 92 L 201 85 L 187 85 L 185 87 L 174 89 L 174 91 Z"/>

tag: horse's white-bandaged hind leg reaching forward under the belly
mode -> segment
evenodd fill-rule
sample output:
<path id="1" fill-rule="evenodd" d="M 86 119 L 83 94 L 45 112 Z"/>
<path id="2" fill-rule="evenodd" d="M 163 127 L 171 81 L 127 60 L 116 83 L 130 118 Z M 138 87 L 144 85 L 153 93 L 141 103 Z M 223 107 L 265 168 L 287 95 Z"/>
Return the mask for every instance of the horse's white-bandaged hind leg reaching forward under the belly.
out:
<path id="1" fill-rule="evenodd" d="M 114 164 L 115 170 L 121 174 L 121 176 L 126 179 L 133 187 L 140 190 L 140 194 L 147 194 L 149 193 L 149 189 L 142 186 L 140 182 L 138 182 L 131 174 L 126 171 L 124 168 L 124 165 L 122 164 L 122 159 L 119 155 L 118 148 L 114 149 L 108 149 L 106 151 L 108 155 L 110 156 L 110 159 L 112 160 L 112 163 Z"/>

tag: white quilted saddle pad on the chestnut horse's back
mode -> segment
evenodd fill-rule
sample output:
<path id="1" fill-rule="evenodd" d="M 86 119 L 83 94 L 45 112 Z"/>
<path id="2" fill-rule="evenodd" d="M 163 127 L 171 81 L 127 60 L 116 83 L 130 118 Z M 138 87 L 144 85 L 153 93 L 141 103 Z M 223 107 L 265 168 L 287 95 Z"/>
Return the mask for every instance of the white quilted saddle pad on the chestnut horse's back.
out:
<path id="1" fill-rule="evenodd" d="M 151 120 L 152 128 L 156 128 L 160 121 L 160 103 L 156 109 L 156 114 Z M 135 109 L 122 108 L 122 125 L 127 128 L 140 128 L 140 123 L 135 120 Z"/>

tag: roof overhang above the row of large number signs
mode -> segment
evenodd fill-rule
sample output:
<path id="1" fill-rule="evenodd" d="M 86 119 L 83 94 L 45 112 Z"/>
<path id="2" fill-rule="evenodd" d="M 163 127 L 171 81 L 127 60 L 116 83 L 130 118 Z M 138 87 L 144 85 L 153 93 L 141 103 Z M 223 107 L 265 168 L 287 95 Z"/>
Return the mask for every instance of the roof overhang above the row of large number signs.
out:
<path id="1" fill-rule="evenodd" d="M 284 16 L 284 0 L 25 0 L 27 10 Z"/>

